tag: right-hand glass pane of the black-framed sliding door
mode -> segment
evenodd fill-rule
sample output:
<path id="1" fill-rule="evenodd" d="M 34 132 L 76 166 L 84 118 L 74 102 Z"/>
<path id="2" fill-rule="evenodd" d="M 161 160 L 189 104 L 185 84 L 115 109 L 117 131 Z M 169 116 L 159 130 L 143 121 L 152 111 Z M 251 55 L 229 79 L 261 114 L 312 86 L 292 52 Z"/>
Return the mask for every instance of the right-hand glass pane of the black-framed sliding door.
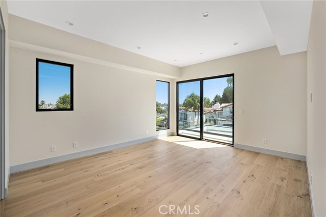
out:
<path id="1" fill-rule="evenodd" d="M 203 139 L 232 144 L 233 77 L 205 79 Z"/>

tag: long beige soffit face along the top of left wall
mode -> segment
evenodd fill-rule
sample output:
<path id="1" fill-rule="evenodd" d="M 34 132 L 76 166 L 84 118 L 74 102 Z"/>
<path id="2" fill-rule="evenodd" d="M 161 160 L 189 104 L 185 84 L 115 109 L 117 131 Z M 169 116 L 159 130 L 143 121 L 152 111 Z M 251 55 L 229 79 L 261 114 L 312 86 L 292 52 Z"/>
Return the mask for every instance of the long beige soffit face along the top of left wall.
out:
<path id="1" fill-rule="evenodd" d="M 15 46 L 36 45 L 37 49 L 43 52 L 57 51 L 61 56 L 69 55 L 71 58 L 106 62 L 157 76 L 180 77 L 179 67 L 14 15 L 10 15 L 9 19 L 9 37 L 11 44 Z"/>

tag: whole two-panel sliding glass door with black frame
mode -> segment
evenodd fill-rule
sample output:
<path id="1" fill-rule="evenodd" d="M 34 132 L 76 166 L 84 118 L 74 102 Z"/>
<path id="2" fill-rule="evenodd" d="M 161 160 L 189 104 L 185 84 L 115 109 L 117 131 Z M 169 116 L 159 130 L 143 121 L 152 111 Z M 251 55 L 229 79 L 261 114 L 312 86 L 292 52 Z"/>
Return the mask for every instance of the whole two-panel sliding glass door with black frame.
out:
<path id="1" fill-rule="evenodd" d="M 233 145 L 234 75 L 177 83 L 178 135 Z"/>

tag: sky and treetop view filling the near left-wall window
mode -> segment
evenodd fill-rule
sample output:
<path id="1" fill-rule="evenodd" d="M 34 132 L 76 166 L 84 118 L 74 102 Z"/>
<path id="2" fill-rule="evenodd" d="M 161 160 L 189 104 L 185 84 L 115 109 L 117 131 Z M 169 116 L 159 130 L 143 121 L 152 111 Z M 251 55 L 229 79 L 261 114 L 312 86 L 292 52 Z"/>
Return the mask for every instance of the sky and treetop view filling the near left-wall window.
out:
<path id="1" fill-rule="evenodd" d="M 61 110 L 71 108 L 70 79 L 72 68 L 42 60 L 38 64 L 38 109 Z"/>

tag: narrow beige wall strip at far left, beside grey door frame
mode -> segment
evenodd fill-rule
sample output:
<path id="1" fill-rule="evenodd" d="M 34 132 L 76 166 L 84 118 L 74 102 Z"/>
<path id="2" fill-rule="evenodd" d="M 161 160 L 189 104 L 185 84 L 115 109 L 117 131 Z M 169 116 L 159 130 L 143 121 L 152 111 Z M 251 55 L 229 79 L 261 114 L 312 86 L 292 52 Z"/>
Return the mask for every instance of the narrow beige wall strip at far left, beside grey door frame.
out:
<path id="1" fill-rule="evenodd" d="M 0 1 L 0 7 L 1 7 L 1 12 L 2 12 L 2 17 L 4 19 L 4 24 L 5 24 L 5 29 L 6 29 L 6 62 L 5 62 L 5 67 L 6 67 L 6 73 L 5 73 L 5 128 L 6 128 L 6 134 L 5 134 L 5 143 L 6 143 L 6 165 L 5 165 L 5 173 L 6 173 L 6 187 L 8 187 L 8 179 L 9 179 L 9 143 L 10 143 L 10 138 L 9 138 L 9 14 L 8 14 L 8 7 L 7 7 L 7 1 Z"/>

